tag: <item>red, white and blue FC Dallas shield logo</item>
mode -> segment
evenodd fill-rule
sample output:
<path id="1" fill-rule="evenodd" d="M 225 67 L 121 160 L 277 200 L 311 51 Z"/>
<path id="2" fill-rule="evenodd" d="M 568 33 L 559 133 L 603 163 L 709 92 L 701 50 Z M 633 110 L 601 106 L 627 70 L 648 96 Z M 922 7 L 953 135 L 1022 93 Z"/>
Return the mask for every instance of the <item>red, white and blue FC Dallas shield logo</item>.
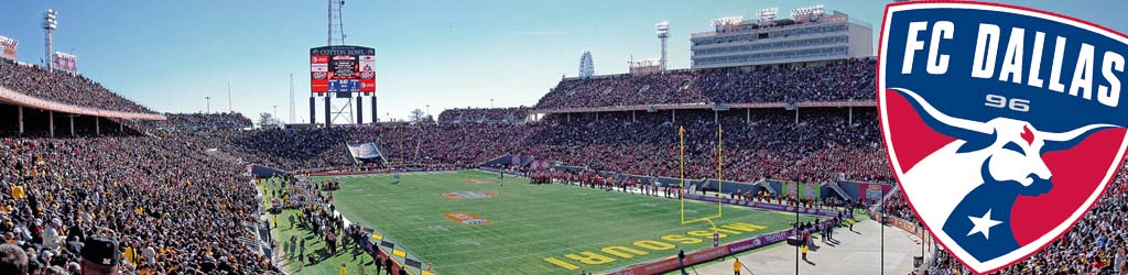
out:
<path id="1" fill-rule="evenodd" d="M 879 46 L 893 172 L 972 270 L 1063 236 L 1120 167 L 1125 35 L 1020 7 L 909 2 L 885 8 Z"/>

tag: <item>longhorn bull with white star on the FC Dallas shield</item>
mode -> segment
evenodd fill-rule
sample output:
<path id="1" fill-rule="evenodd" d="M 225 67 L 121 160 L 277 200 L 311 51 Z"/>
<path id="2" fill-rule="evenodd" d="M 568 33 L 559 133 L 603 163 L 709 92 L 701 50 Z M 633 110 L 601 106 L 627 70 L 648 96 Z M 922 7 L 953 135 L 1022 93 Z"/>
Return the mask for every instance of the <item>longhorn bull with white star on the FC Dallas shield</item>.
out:
<path id="1" fill-rule="evenodd" d="M 949 194 L 962 199 L 936 199 L 935 213 L 922 214 L 962 246 L 982 246 L 970 254 L 989 260 L 1019 248 L 1005 221 L 1019 196 L 1050 190 L 1052 174 L 1042 154 L 1073 148 L 1110 124 L 1093 124 L 1063 133 L 1038 131 L 1028 122 L 997 117 L 986 123 L 946 115 L 920 95 L 892 88 L 920 114 L 933 131 L 954 138 L 905 172 L 904 180 L 923 188 L 906 193 Z M 967 175 L 955 177 L 953 175 Z M 928 201 L 928 199 L 925 199 Z M 977 225 L 977 224 L 989 224 Z M 985 228 L 986 227 L 986 228 Z"/>

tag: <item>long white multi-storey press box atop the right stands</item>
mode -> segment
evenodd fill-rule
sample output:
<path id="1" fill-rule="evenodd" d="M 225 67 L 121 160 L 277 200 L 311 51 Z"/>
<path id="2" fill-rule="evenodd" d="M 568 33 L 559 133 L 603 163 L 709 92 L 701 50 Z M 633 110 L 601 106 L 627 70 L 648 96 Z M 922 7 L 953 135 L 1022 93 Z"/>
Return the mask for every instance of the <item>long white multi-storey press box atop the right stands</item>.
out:
<path id="1" fill-rule="evenodd" d="M 873 28 L 821 6 L 796 9 L 776 19 L 776 9 L 758 19 L 713 20 L 713 32 L 690 36 L 693 68 L 800 63 L 873 56 Z"/>

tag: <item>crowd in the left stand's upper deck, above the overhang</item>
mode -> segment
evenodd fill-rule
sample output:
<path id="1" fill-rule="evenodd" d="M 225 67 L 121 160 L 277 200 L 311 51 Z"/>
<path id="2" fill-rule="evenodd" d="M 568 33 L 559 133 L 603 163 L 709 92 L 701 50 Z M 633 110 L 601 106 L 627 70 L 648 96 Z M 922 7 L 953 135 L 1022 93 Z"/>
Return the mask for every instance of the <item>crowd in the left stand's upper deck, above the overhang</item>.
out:
<path id="1" fill-rule="evenodd" d="M 49 71 L 43 66 L 20 64 L 7 59 L 0 59 L 0 87 L 68 105 L 127 113 L 153 113 L 81 74 Z"/>

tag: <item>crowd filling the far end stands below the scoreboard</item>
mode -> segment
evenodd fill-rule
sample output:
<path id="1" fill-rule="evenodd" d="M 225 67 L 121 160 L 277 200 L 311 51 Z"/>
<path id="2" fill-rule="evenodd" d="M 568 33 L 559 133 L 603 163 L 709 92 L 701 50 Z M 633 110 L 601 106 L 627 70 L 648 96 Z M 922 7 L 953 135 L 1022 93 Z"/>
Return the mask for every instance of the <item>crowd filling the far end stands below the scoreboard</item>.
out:
<path id="1" fill-rule="evenodd" d="M 235 159 L 284 170 L 351 167 L 344 144 L 376 142 L 389 160 L 473 167 L 518 151 L 532 125 L 418 124 L 381 127 L 195 131 L 166 138 L 215 149 Z"/>

